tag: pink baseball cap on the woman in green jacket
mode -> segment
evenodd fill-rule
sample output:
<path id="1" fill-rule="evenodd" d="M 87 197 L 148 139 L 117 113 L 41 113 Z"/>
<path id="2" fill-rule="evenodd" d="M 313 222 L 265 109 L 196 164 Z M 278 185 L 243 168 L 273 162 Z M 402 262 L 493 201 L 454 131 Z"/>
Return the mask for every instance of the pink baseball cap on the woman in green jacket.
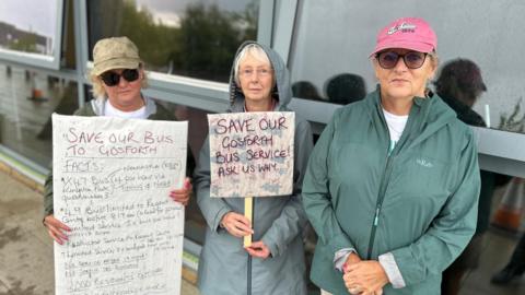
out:
<path id="1" fill-rule="evenodd" d="M 404 48 L 420 52 L 431 52 L 438 46 L 438 37 L 430 25 L 419 17 L 401 17 L 384 27 L 377 35 L 373 57 L 388 48 Z"/>

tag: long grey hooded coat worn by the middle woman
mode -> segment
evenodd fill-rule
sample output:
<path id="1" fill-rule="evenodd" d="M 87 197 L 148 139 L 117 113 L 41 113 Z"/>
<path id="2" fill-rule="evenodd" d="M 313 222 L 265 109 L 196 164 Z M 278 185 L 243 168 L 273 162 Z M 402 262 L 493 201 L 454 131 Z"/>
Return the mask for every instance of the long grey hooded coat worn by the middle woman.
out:
<path id="1" fill-rule="evenodd" d="M 253 42 L 243 44 L 242 48 Z M 276 110 L 289 111 L 291 101 L 290 78 L 284 62 L 277 52 L 261 46 L 275 70 L 279 103 Z M 236 56 L 235 55 L 235 56 Z M 231 108 L 244 111 L 244 95 L 230 78 Z M 266 260 L 252 259 L 248 273 L 248 253 L 241 238 L 219 226 L 230 211 L 244 212 L 244 199 L 210 198 L 210 146 L 207 139 L 199 154 L 195 173 L 197 201 L 208 227 L 199 260 L 199 288 L 201 294 L 246 294 L 250 276 L 252 294 L 306 294 L 306 275 L 302 231 L 306 216 L 301 203 L 301 186 L 310 153 L 313 149 L 310 123 L 295 116 L 293 194 L 254 199 L 253 240 L 262 240 L 271 251 Z"/>

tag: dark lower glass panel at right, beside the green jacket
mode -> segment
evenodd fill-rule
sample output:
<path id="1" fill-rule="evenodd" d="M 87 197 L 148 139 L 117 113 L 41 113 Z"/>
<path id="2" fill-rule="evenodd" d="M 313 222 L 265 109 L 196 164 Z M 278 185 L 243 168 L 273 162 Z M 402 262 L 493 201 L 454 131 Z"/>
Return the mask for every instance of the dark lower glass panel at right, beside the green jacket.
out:
<path id="1" fill-rule="evenodd" d="M 525 292 L 525 179 L 481 170 L 476 234 L 446 272 L 460 294 Z M 463 276 L 462 276 L 463 275 Z M 452 294 L 452 293 L 443 293 Z"/>

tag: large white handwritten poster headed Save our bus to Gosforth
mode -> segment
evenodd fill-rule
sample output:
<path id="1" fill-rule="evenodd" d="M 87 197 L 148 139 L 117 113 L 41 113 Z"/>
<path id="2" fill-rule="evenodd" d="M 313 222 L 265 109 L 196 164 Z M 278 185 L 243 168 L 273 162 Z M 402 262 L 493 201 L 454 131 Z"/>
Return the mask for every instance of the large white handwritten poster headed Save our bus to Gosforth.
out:
<path id="1" fill-rule="evenodd" d="M 52 115 L 56 294 L 179 294 L 187 122 Z"/>

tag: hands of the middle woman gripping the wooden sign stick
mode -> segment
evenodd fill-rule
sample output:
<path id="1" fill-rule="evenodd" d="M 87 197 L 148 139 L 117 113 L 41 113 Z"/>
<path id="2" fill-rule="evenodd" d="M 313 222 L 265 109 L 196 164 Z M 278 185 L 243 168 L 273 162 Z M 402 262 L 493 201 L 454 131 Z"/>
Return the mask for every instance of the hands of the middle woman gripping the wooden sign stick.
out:
<path id="1" fill-rule="evenodd" d="M 252 222 L 246 216 L 233 211 L 224 214 L 221 226 L 232 236 L 242 238 L 252 235 Z M 252 246 L 244 248 L 250 256 L 267 259 L 270 256 L 270 249 L 261 240 L 253 241 Z"/>

